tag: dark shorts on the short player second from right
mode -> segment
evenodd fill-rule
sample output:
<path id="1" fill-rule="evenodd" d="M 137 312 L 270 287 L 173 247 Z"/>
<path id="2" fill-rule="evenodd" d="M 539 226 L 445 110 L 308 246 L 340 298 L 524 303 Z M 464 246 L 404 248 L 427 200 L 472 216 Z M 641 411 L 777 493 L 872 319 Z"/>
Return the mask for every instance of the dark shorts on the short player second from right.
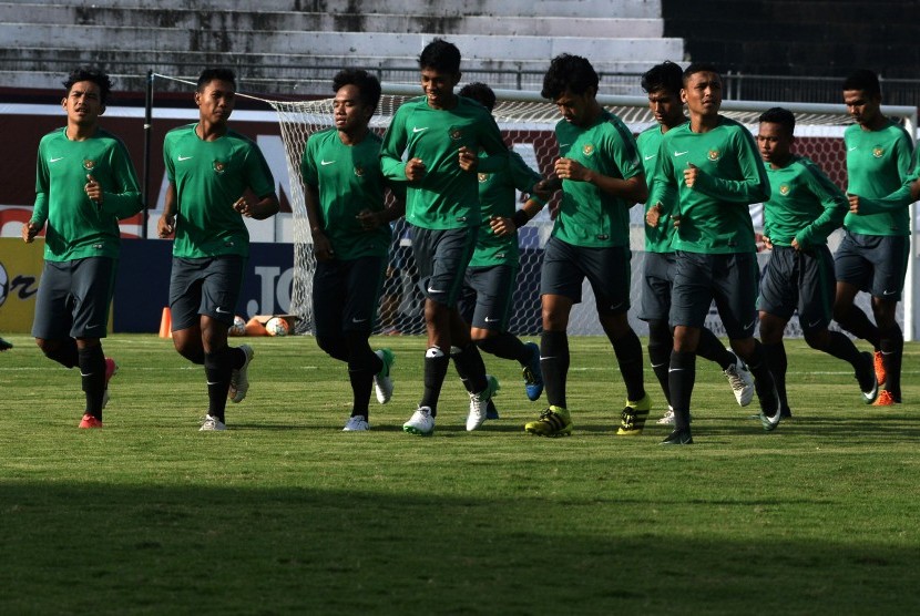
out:
<path id="1" fill-rule="evenodd" d="M 774 246 L 760 279 L 757 308 L 784 320 L 798 310 L 805 332 L 820 331 L 834 318 L 834 260 L 827 246 L 807 253 Z"/>

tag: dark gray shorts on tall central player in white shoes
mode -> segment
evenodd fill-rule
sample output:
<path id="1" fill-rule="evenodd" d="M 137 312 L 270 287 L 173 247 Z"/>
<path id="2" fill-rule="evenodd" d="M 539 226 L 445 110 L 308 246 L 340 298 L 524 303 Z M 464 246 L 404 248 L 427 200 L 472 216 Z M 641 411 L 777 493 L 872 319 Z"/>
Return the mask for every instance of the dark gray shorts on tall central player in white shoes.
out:
<path id="1" fill-rule="evenodd" d="M 478 234 L 479 227 L 413 227 L 412 256 L 419 270 L 419 288 L 426 298 L 449 307 L 457 304 Z"/>

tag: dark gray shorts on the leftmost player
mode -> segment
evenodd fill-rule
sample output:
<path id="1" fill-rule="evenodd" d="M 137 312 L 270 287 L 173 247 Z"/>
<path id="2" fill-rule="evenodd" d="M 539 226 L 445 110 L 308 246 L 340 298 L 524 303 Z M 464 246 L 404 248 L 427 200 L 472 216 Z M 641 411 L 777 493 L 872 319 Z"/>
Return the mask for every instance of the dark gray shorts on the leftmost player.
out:
<path id="1" fill-rule="evenodd" d="M 117 267 L 109 257 L 44 261 L 32 336 L 43 340 L 105 338 Z"/>

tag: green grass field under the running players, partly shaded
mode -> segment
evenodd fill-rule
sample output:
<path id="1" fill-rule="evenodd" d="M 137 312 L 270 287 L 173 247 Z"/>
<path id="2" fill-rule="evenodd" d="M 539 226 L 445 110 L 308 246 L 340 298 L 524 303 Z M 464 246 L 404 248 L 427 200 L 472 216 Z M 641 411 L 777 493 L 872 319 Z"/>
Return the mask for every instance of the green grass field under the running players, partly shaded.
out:
<path id="1" fill-rule="evenodd" d="M 748 419 L 697 367 L 691 448 L 615 435 L 605 340 L 572 341 L 569 439 L 528 437 L 517 366 L 487 357 L 502 414 L 403 434 L 423 340 L 367 433 L 343 433 L 345 368 L 307 337 L 251 340 L 249 397 L 201 433 L 204 373 L 168 340 L 114 336 L 104 430 L 80 378 L 25 336 L 0 355 L 0 614 L 917 614 L 918 355 L 906 404 L 860 402 L 847 366 L 789 341 L 795 418 Z M 756 404 L 756 402 L 755 402 Z"/>

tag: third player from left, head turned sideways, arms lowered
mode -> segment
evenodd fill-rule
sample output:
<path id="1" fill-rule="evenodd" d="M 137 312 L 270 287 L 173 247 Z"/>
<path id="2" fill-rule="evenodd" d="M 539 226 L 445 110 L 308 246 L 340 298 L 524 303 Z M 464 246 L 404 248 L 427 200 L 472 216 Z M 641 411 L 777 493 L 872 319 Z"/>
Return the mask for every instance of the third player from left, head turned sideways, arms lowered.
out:
<path id="1" fill-rule="evenodd" d="M 313 233 L 316 271 L 313 306 L 316 342 L 348 365 L 351 417 L 345 431 L 368 430 L 371 382 L 377 401 L 392 396 L 389 349 L 372 351 L 374 328 L 390 247 L 390 222 L 402 205 L 385 207 L 380 137 L 368 122 L 380 101 L 380 82 L 362 70 L 333 79 L 335 127 L 307 141 L 300 172 Z"/>

